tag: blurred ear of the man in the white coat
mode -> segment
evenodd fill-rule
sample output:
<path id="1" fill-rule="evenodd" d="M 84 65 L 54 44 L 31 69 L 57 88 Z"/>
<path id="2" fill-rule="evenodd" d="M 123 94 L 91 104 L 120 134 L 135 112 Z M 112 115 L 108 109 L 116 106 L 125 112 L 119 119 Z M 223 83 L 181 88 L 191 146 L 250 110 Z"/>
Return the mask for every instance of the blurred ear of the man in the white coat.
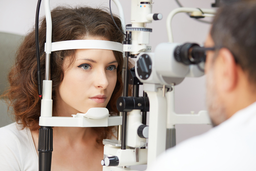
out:
<path id="1" fill-rule="evenodd" d="M 215 62 L 217 64 L 216 72 L 219 78 L 216 79 L 219 88 L 225 92 L 232 91 L 238 83 L 237 65 L 232 53 L 226 48 L 220 49 Z"/>

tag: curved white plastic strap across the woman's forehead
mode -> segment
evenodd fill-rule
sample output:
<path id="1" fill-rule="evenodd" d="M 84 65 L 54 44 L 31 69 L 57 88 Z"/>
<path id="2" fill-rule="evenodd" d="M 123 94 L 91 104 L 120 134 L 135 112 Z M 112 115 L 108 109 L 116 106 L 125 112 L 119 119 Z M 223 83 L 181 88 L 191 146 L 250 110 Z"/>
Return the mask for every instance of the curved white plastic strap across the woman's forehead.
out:
<path id="1" fill-rule="evenodd" d="M 71 49 L 104 49 L 123 52 L 123 45 L 119 42 L 108 40 L 66 40 L 52 42 L 52 52 Z"/>

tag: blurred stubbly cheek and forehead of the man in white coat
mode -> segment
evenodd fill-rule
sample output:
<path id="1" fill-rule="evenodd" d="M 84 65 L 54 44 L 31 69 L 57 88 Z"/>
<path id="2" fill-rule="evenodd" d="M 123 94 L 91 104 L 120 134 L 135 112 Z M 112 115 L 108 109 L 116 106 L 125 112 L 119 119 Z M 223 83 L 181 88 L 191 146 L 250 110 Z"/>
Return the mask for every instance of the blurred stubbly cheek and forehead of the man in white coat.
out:
<path id="1" fill-rule="evenodd" d="M 211 48 L 214 46 L 214 41 L 209 34 L 205 41 L 205 47 Z M 218 82 L 218 78 L 216 76 L 216 66 L 218 65 L 218 61 L 216 61 L 216 58 L 218 58 L 217 51 L 208 51 L 205 62 L 206 104 L 210 119 L 214 126 L 219 125 L 226 120 L 225 107 L 218 91 L 218 85 L 220 82 Z"/>

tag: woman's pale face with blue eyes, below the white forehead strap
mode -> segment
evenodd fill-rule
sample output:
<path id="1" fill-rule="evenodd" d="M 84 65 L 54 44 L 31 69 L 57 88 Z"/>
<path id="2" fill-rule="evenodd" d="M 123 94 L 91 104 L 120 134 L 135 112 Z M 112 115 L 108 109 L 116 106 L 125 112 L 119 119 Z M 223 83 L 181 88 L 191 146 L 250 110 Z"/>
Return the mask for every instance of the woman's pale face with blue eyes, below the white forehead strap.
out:
<path id="1" fill-rule="evenodd" d="M 76 50 L 63 61 L 64 77 L 57 93 L 57 113 L 86 113 L 90 108 L 105 108 L 115 89 L 118 63 L 111 50 Z M 59 113 L 62 111 L 61 113 Z"/>

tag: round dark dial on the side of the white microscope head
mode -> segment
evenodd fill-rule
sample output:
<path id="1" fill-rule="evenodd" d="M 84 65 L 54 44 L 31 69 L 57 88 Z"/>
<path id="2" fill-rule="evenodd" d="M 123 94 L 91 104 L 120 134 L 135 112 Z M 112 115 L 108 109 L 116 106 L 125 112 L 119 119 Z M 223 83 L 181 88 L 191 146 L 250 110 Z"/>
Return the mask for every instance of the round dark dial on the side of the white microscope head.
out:
<path id="1" fill-rule="evenodd" d="M 143 54 L 137 60 L 137 72 L 141 79 L 147 79 L 150 77 L 152 71 L 152 61 L 150 56 Z"/>

